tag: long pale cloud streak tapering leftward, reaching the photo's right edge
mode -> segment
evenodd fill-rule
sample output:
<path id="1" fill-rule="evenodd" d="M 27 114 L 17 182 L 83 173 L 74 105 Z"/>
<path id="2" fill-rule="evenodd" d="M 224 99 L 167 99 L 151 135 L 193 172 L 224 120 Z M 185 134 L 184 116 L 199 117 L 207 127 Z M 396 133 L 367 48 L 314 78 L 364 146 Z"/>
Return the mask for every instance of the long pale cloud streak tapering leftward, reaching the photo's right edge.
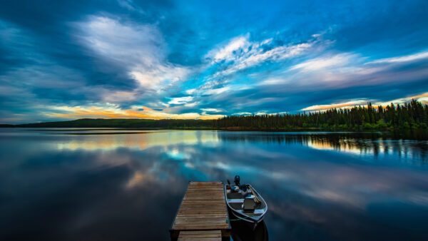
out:
<path id="1" fill-rule="evenodd" d="M 357 86 L 410 83 L 428 78 L 425 63 L 367 62 L 357 53 L 324 53 L 297 63 L 276 76 L 259 81 L 259 88 L 275 91 L 332 90 Z M 423 60 L 423 58 L 420 58 Z M 264 87 L 263 87 L 264 86 Z M 274 89 L 275 88 L 275 89 Z"/>

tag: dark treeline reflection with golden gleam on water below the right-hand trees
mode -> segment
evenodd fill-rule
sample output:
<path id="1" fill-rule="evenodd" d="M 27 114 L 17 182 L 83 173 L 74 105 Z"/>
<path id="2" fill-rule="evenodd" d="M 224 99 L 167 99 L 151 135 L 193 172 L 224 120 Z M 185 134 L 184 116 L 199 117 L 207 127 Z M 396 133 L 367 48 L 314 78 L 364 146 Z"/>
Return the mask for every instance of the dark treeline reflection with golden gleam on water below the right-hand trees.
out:
<path id="1" fill-rule="evenodd" d="M 427 160 L 427 139 L 408 140 L 391 133 L 247 133 L 220 135 L 225 141 L 307 145 L 319 150 L 335 150 L 357 155 L 398 155 L 412 160 Z M 407 136 L 412 138 L 412 136 Z"/>

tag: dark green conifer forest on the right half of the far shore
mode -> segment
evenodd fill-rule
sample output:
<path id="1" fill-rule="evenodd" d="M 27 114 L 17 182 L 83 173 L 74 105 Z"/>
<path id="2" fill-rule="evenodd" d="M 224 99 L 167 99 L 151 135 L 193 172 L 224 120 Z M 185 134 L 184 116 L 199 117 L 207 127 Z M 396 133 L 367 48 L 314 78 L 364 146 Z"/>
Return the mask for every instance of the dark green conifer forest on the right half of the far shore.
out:
<path id="1" fill-rule="evenodd" d="M 325 128 L 345 130 L 379 130 L 385 128 L 427 128 L 428 105 L 412 100 L 404 105 L 355 106 L 349 109 L 296 114 L 227 116 L 213 120 L 214 128 L 247 130 L 282 130 L 292 128 Z"/>

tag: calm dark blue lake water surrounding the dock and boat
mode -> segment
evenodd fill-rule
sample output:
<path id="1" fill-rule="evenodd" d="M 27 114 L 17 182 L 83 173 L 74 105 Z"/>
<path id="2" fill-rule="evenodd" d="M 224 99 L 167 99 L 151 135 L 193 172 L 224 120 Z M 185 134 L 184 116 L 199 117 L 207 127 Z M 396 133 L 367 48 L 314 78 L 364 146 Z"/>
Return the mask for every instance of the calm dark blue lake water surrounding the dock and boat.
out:
<path id="1" fill-rule="evenodd" d="M 235 174 L 270 240 L 428 240 L 424 136 L 123 132 L 0 129 L 0 240 L 168 240 L 189 180 Z"/>

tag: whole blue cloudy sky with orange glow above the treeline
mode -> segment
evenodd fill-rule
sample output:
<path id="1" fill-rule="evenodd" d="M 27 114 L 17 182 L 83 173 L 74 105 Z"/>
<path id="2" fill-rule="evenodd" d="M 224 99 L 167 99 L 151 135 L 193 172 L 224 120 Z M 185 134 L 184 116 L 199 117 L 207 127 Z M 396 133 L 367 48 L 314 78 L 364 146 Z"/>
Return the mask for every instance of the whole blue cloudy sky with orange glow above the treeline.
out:
<path id="1" fill-rule="evenodd" d="M 0 0 L 0 123 L 428 103 L 428 1 Z"/>

